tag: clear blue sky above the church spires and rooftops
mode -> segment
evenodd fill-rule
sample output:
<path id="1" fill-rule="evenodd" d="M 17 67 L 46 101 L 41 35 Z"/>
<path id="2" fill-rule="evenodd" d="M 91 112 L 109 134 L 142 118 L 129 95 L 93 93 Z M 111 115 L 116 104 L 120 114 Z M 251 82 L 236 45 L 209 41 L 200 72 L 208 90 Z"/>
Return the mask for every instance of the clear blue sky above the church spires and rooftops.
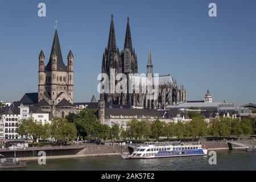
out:
<path id="1" fill-rule="evenodd" d="M 38 17 L 38 3 L 47 16 Z M 208 16 L 210 2 L 217 17 Z M 76 102 L 98 98 L 97 75 L 114 14 L 117 44 L 123 48 L 126 19 L 146 72 L 148 43 L 154 72 L 184 84 L 188 100 L 201 100 L 209 86 L 214 101 L 256 102 L 256 1 L 0 1 L 0 100 L 19 100 L 38 91 L 38 55 L 48 62 L 55 19 L 65 63 L 71 47 Z"/>

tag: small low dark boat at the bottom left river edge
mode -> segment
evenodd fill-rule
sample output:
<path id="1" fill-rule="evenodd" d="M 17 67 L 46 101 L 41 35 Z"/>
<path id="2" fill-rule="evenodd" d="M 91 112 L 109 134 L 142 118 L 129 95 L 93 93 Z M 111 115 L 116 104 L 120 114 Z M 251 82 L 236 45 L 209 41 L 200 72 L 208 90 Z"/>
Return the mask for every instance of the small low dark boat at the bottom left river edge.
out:
<path id="1" fill-rule="evenodd" d="M 3 156 L 3 155 L 1 155 Z M 20 162 L 18 158 L 2 158 L 0 159 L 0 169 L 6 168 L 19 168 L 27 167 L 27 163 L 22 161 Z"/>

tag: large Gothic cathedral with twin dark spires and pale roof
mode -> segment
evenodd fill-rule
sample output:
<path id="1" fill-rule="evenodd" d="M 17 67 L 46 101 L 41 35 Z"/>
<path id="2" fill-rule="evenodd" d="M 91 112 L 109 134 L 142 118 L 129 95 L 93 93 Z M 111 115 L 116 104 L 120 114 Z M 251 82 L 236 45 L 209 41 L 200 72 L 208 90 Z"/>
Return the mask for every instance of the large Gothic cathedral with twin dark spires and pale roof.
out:
<path id="1" fill-rule="evenodd" d="M 101 92 L 100 99 L 105 102 L 112 102 L 117 105 L 132 105 L 135 108 L 143 109 L 166 109 L 166 106 L 173 105 L 178 102 L 185 102 L 187 100 L 187 94 L 184 86 L 181 85 L 178 88 L 176 81 L 170 75 L 160 75 L 158 78 L 158 90 L 157 96 L 152 99 L 148 97 L 148 93 L 142 92 L 143 82 L 145 82 L 148 76 L 154 78 L 153 65 L 151 59 L 151 49 L 148 49 L 148 63 L 147 73 L 145 76 L 138 74 L 138 60 L 131 41 L 131 28 L 130 19 L 127 18 L 127 27 L 125 34 L 125 43 L 123 50 L 119 51 L 117 43 L 115 41 L 115 29 L 113 15 L 111 16 L 110 31 L 108 46 L 105 48 L 105 52 L 102 58 L 102 73 L 106 73 L 110 77 L 110 71 L 115 69 L 115 75 L 118 73 L 124 73 L 129 79 L 133 81 L 133 88 L 129 88 L 127 83 L 127 90 L 131 89 L 131 92 L 127 93 L 111 93 L 110 83 L 108 86 L 109 92 Z M 133 74 L 132 76 L 130 76 Z M 115 81 L 117 84 L 117 81 Z M 139 89 L 139 92 L 135 92 L 135 88 Z"/>

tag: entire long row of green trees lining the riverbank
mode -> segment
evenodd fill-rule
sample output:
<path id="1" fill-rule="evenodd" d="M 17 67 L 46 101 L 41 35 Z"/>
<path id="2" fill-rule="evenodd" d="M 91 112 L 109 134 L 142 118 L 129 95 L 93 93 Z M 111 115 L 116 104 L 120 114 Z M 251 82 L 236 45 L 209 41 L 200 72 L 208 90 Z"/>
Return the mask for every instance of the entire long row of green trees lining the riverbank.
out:
<path id="1" fill-rule="evenodd" d="M 217 118 L 209 123 L 197 112 L 188 113 L 192 118 L 190 122 L 164 123 L 159 119 L 155 121 L 132 119 L 127 123 L 127 129 L 119 129 L 115 124 L 111 128 L 98 122 L 95 110 L 84 109 L 79 114 L 69 114 L 67 118 L 55 118 L 51 125 L 33 122 L 31 119 L 22 120 L 18 125 L 18 134 L 34 141 L 36 139 L 48 139 L 54 137 L 59 141 L 76 139 L 77 136 L 84 139 L 135 139 L 142 140 L 159 137 L 177 137 L 178 139 L 189 137 L 192 139 L 212 135 L 214 137 L 230 137 L 255 133 L 256 119 L 230 119 Z"/>

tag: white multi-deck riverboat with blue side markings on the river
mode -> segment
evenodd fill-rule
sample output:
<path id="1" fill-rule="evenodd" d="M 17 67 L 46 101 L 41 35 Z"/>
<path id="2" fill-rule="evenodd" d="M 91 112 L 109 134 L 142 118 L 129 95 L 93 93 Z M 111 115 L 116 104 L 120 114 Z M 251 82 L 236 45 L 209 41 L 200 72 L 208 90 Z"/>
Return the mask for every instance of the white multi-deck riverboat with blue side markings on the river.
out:
<path id="1" fill-rule="evenodd" d="M 207 155 L 207 148 L 201 144 L 180 142 L 147 142 L 134 149 L 130 155 L 122 155 L 123 159 L 168 158 L 177 156 Z"/>

